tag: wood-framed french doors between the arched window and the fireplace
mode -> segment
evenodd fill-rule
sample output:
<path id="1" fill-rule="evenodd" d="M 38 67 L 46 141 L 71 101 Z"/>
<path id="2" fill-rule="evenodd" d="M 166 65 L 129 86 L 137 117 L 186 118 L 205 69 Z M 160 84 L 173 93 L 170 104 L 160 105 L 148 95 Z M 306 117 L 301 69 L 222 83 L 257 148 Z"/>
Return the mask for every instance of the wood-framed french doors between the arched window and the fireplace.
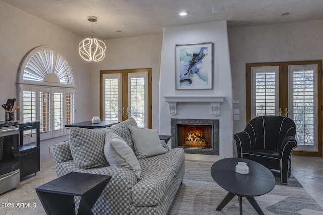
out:
<path id="1" fill-rule="evenodd" d="M 101 71 L 100 111 L 103 121 L 133 117 L 151 128 L 151 69 Z"/>

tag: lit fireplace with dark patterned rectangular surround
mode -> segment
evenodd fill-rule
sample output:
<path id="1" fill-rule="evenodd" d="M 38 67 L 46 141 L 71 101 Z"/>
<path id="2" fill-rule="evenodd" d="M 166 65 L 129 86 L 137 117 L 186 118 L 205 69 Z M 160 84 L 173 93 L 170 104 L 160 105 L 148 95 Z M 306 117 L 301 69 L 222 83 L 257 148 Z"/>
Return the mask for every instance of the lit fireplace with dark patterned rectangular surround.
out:
<path id="1" fill-rule="evenodd" d="M 219 120 L 171 119 L 172 148 L 185 153 L 219 155 Z"/>

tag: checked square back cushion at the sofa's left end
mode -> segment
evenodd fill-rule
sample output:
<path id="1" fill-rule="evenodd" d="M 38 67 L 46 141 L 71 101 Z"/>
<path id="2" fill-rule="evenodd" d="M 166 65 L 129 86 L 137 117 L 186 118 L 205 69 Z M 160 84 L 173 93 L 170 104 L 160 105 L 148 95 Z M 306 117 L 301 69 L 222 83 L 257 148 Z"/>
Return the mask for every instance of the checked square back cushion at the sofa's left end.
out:
<path id="1" fill-rule="evenodd" d="M 74 162 L 83 169 L 105 167 L 104 129 L 71 128 L 70 148 Z"/>

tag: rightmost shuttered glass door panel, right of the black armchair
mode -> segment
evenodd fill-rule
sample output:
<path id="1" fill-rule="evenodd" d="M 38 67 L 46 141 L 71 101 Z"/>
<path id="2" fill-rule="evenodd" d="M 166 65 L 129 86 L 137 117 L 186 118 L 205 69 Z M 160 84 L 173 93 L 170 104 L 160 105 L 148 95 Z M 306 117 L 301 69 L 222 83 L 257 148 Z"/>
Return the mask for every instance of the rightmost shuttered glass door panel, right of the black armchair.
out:
<path id="1" fill-rule="evenodd" d="M 316 112 L 317 112 L 317 67 L 289 66 L 290 112 L 296 124 L 297 150 L 315 151 L 316 144 Z"/>

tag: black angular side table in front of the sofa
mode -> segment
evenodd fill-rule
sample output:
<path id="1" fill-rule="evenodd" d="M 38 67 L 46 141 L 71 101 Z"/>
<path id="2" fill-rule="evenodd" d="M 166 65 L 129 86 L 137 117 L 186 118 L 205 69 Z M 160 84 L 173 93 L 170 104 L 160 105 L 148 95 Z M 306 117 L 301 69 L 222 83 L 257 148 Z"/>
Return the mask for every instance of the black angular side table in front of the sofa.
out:
<path id="1" fill-rule="evenodd" d="M 80 196 L 78 215 L 93 214 L 91 208 L 111 176 L 70 172 L 36 188 L 47 214 L 75 214 L 74 196 Z"/>

